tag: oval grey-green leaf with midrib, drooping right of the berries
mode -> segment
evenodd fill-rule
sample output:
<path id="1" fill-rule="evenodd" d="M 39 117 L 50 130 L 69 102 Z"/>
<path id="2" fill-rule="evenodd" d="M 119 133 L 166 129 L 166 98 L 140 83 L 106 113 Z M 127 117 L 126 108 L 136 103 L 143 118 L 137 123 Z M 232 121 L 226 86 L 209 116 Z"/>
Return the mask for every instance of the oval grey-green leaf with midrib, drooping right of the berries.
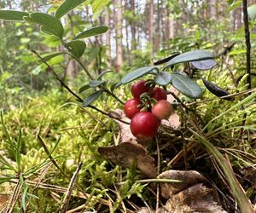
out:
<path id="1" fill-rule="evenodd" d="M 183 95 L 190 98 L 199 98 L 202 95 L 202 89 L 190 78 L 177 73 L 172 73 L 171 76 L 172 86 L 179 90 Z"/>

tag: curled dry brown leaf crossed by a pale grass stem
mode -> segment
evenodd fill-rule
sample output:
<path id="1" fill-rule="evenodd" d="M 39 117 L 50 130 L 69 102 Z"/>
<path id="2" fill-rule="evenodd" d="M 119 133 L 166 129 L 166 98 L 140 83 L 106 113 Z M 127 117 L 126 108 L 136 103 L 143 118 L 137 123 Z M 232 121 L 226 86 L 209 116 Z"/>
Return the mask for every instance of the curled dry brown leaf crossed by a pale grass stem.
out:
<path id="1" fill-rule="evenodd" d="M 165 199 L 172 198 L 173 194 L 179 193 L 196 183 L 207 182 L 207 179 L 195 170 L 166 170 L 162 172 L 158 178 L 182 181 L 179 183 L 173 182 L 160 184 L 161 194 Z"/>

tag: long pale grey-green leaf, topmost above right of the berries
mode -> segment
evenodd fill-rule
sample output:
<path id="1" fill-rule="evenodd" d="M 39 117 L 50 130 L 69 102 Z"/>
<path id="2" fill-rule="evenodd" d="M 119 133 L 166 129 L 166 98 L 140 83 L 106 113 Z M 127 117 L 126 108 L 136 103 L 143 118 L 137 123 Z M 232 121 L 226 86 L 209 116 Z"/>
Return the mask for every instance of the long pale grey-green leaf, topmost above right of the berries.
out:
<path id="1" fill-rule="evenodd" d="M 195 61 L 195 60 L 207 60 L 207 59 L 212 59 L 213 57 L 214 57 L 213 54 L 208 50 L 204 50 L 204 49 L 193 50 L 190 52 L 183 53 L 181 55 L 177 55 L 172 60 L 169 60 L 166 63 L 166 66 L 164 67 L 164 69 L 166 69 L 169 66 L 176 65 L 178 63 Z"/>

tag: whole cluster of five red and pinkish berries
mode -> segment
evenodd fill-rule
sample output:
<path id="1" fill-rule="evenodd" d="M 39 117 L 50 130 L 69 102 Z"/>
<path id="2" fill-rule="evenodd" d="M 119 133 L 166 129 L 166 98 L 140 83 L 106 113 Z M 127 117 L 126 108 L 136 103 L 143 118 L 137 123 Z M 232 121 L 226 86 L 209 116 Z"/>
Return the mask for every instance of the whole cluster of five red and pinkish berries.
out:
<path id="1" fill-rule="evenodd" d="M 126 101 L 125 116 L 131 119 L 130 130 L 138 139 L 148 139 L 157 134 L 160 120 L 169 118 L 172 105 L 166 101 L 165 89 L 138 81 L 131 86 L 133 99 Z"/>

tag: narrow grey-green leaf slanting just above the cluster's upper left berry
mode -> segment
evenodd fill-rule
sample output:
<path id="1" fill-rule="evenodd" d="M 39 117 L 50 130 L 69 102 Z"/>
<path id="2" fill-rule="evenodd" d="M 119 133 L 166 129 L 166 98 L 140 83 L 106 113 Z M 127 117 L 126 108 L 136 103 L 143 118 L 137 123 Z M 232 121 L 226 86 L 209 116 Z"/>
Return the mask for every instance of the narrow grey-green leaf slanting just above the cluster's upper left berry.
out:
<path id="1" fill-rule="evenodd" d="M 128 74 L 126 74 L 122 79 L 121 79 L 121 83 L 125 84 L 125 83 L 130 83 L 131 81 L 136 80 L 137 78 L 141 78 L 144 75 L 152 72 L 154 69 L 158 69 L 155 66 L 143 66 L 141 68 L 138 68 L 137 70 L 133 71 L 133 72 L 129 72 Z"/>

